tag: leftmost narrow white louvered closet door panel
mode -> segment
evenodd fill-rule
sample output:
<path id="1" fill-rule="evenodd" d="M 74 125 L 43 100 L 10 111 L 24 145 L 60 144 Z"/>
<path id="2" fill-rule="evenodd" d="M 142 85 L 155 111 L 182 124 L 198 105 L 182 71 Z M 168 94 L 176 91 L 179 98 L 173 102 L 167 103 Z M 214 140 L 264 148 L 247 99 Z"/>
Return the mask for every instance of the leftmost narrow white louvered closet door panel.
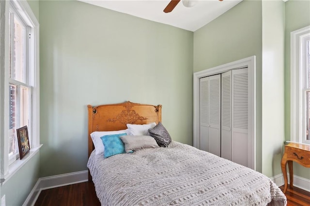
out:
<path id="1" fill-rule="evenodd" d="M 200 79 L 200 149 L 209 151 L 209 77 Z"/>

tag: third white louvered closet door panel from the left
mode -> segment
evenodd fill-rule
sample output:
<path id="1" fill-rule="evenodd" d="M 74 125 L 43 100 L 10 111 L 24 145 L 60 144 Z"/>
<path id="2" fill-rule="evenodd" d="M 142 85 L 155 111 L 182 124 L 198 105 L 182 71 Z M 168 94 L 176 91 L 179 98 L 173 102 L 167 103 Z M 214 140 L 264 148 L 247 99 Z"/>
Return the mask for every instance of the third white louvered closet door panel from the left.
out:
<path id="1" fill-rule="evenodd" d="M 232 71 L 222 74 L 221 157 L 232 160 Z"/>

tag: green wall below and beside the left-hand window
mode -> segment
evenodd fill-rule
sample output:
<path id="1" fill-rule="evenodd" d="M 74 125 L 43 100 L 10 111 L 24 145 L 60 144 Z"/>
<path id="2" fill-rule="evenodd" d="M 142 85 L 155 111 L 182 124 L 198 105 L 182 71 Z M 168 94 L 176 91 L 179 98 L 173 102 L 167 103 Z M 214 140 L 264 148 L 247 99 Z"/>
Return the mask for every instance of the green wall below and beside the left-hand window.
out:
<path id="1" fill-rule="evenodd" d="M 39 1 L 28 1 L 32 12 L 39 20 Z M 40 177 L 40 152 L 23 165 L 0 187 L 0 197 L 5 195 L 6 206 L 21 206 Z"/>

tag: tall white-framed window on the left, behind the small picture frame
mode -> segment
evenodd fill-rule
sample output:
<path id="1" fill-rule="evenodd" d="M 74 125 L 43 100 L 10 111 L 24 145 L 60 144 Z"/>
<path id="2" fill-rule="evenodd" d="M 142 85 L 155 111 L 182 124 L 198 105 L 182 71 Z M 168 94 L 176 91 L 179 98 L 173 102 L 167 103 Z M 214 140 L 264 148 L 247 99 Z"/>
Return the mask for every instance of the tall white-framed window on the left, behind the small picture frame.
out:
<path id="1" fill-rule="evenodd" d="M 1 1 L 0 182 L 27 161 L 19 159 L 16 129 L 26 126 L 39 148 L 39 24 L 27 1 Z M 3 32 L 2 32 L 3 31 Z M 4 69 L 2 69 L 2 66 Z M 33 156 L 34 152 L 32 152 Z M 32 157 L 31 154 L 28 157 Z"/>

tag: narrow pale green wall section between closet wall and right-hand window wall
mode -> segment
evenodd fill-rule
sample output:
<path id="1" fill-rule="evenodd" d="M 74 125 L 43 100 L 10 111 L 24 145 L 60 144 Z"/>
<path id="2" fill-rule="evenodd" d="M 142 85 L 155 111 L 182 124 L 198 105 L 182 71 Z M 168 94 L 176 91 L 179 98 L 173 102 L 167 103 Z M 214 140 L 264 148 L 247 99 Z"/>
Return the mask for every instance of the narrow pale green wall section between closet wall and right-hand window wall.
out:
<path id="1" fill-rule="evenodd" d="M 262 173 L 282 173 L 284 141 L 284 28 L 282 0 L 263 0 L 262 59 Z M 277 128 L 277 129 L 275 129 Z"/>

